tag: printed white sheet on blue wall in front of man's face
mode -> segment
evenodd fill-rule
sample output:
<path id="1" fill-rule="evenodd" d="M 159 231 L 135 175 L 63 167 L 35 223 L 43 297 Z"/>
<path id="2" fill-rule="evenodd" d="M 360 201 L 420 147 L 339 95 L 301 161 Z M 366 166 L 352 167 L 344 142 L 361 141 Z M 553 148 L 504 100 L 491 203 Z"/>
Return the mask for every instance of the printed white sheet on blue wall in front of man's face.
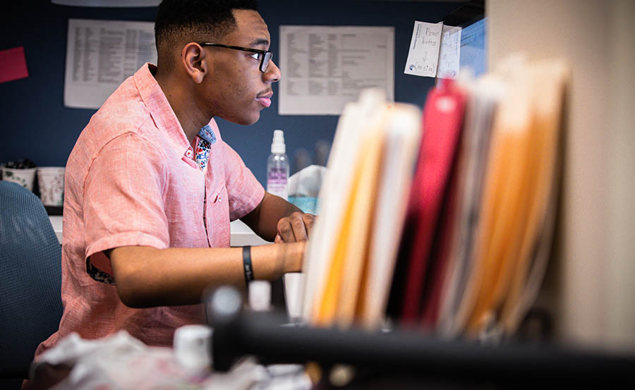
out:
<path id="1" fill-rule="evenodd" d="M 280 26 L 278 114 L 339 115 L 368 87 L 394 100 L 394 28 Z"/>

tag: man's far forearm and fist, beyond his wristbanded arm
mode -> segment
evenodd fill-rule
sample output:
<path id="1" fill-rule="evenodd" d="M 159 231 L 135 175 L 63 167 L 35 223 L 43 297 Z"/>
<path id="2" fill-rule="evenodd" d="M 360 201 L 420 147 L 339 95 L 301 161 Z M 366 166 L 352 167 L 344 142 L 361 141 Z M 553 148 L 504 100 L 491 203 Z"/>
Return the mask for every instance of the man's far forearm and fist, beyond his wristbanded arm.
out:
<path id="1" fill-rule="evenodd" d="M 306 241 L 314 220 L 313 214 L 305 214 L 282 197 L 267 192 L 260 204 L 241 218 L 258 236 L 276 243 Z"/>

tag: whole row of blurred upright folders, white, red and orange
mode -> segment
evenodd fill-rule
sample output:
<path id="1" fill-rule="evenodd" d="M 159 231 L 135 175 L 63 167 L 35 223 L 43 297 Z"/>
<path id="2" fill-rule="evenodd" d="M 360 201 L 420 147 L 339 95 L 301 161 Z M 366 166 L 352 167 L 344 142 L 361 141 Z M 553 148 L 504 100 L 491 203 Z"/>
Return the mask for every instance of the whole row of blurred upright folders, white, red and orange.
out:
<path id="1" fill-rule="evenodd" d="M 550 257 L 568 74 L 509 59 L 440 80 L 423 113 L 377 90 L 348 104 L 303 263 L 303 320 L 513 337 Z"/>

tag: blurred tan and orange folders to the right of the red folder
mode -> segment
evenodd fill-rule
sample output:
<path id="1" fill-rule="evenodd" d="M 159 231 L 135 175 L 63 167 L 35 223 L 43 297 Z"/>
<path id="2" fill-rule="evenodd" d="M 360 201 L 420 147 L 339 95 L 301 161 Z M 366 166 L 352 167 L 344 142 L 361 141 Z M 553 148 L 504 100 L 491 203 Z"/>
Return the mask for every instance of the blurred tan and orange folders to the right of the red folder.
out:
<path id="1" fill-rule="evenodd" d="M 456 171 L 442 217 L 431 222 L 435 243 L 421 304 L 414 317 L 399 313 L 401 321 L 417 319 L 444 336 L 478 337 L 492 327 L 514 334 L 519 327 L 552 240 L 566 80 L 558 61 L 516 59 L 461 83 L 468 102 Z"/>

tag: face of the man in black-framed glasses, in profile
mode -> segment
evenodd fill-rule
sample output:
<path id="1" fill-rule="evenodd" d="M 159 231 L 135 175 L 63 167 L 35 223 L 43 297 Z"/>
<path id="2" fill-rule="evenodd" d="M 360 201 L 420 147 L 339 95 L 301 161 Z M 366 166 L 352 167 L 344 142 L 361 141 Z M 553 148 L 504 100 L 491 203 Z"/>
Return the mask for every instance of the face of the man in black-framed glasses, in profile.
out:
<path id="1" fill-rule="evenodd" d="M 268 50 L 269 30 L 256 11 L 234 10 L 236 28 L 225 35 L 219 44 L 250 49 Z M 205 47 L 212 54 L 213 69 L 201 87 L 203 104 L 213 116 L 241 125 L 250 125 L 260 118 L 260 111 L 270 106 L 271 84 L 280 79 L 280 69 L 270 61 L 265 73 L 259 69 L 260 60 L 253 53 Z"/>

